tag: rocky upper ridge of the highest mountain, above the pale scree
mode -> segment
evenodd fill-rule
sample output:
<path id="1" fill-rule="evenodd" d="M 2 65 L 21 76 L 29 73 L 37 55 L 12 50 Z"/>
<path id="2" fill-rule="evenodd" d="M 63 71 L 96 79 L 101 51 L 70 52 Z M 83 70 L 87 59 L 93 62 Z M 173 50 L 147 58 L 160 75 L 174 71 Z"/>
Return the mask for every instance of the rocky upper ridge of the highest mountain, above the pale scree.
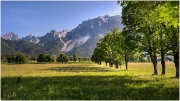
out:
<path id="1" fill-rule="evenodd" d="M 94 19 L 89 19 L 87 21 L 83 21 L 81 24 L 79 24 L 75 29 L 70 31 L 67 34 L 67 37 L 75 38 L 77 36 L 86 36 L 87 33 L 90 36 L 96 36 L 96 35 L 106 35 L 110 32 L 112 28 L 123 28 L 123 25 L 121 24 L 121 16 L 99 16 Z"/>

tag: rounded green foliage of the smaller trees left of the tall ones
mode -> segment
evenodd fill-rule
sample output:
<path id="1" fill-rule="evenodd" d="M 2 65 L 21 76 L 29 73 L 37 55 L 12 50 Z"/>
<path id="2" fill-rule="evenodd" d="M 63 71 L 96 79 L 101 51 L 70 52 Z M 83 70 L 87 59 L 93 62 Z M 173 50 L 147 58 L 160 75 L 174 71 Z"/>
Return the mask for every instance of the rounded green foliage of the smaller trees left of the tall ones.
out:
<path id="1" fill-rule="evenodd" d="M 113 64 L 115 64 L 116 68 L 119 68 L 119 65 L 123 64 L 124 59 L 122 45 L 122 33 L 120 29 L 114 28 L 97 43 L 91 60 L 100 65 L 104 61 L 106 66 L 109 63 L 110 67 L 113 67 Z"/>

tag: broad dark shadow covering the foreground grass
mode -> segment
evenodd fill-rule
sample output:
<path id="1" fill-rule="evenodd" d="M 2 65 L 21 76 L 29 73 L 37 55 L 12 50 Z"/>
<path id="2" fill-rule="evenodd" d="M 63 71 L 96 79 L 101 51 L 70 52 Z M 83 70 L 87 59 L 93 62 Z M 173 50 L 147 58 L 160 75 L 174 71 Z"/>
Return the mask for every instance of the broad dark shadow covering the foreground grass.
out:
<path id="1" fill-rule="evenodd" d="M 19 80 L 19 82 L 17 82 Z M 3 100 L 178 100 L 179 87 L 131 76 L 1 78 Z"/>

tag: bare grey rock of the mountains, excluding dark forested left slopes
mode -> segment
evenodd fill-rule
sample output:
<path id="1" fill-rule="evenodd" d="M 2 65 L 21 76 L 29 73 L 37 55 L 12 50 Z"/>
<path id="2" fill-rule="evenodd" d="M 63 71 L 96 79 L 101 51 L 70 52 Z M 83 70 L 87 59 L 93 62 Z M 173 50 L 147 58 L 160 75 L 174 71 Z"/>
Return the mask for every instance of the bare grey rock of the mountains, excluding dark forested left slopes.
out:
<path id="1" fill-rule="evenodd" d="M 48 51 L 59 56 L 60 53 L 66 53 L 72 56 L 77 53 L 80 57 L 91 57 L 96 43 L 103 38 L 113 28 L 123 28 L 121 24 L 121 16 L 99 16 L 94 19 L 83 21 L 73 30 L 51 30 L 42 37 L 29 35 L 22 40 L 35 43 L 43 47 L 44 51 Z M 17 40 L 19 37 L 14 33 L 5 34 L 4 39 Z"/>

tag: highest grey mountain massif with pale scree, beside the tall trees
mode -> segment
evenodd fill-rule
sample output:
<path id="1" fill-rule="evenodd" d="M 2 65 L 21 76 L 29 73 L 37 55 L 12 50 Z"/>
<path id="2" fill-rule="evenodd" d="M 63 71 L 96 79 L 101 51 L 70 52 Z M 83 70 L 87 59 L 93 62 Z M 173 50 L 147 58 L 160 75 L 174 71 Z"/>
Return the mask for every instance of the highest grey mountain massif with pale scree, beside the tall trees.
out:
<path id="1" fill-rule="evenodd" d="M 94 19 L 83 21 L 75 29 L 67 33 L 68 43 L 65 51 L 68 55 L 74 52 L 81 57 L 90 57 L 93 54 L 96 43 L 113 28 L 123 28 L 121 16 L 99 16 Z"/>

